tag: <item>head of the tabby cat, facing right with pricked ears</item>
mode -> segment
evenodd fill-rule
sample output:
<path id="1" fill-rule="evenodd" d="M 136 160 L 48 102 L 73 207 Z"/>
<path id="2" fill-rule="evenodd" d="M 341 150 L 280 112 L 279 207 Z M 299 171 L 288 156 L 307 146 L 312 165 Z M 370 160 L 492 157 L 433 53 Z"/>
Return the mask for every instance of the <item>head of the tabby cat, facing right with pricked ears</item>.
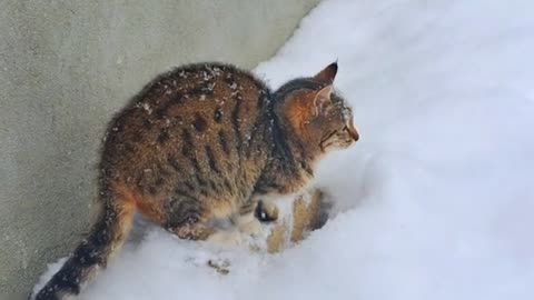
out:
<path id="1" fill-rule="evenodd" d="M 310 78 L 295 79 L 277 91 L 294 132 L 320 153 L 345 149 L 359 139 L 350 106 L 334 91 L 337 62 Z"/>

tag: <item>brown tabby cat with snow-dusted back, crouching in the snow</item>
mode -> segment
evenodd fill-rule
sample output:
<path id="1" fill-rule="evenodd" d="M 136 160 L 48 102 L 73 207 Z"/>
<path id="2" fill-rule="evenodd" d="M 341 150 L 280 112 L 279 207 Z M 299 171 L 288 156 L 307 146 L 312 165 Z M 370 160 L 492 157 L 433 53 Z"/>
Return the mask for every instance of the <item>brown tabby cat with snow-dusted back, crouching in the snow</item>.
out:
<path id="1" fill-rule="evenodd" d="M 148 83 L 108 126 L 90 233 L 36 299 L 78 294 L 122 246 L 136 211 L 179 238 L 206 240 L 227 237 L 216 220 L 245 214 L 258 222 L 261 197 L 305 188 L 319 159 L 359 137 L 333 90 L 337 69 L 330 63 L 275 92 L 218 62 Z"/>

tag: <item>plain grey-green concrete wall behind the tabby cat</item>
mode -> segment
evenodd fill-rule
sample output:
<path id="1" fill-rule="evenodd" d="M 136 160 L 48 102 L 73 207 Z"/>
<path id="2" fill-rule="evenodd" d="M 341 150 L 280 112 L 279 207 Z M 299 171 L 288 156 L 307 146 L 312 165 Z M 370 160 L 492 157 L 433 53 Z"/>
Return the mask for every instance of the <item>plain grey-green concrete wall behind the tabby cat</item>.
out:
<path id="1" fill-rule="evenodd" d="M 316 2 L 0 1 L 0 298 L 79 240 L 113 111 L 170 66 L 254 67 Z"/>

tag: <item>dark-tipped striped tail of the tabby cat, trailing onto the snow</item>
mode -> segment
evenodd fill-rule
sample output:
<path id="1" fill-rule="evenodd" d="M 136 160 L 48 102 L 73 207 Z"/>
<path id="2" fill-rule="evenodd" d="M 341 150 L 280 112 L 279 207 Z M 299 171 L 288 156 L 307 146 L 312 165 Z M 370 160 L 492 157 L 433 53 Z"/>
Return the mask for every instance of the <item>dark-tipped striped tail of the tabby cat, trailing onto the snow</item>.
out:
<path id="1" fill-rule="evenodd" d="M 78 294 L 100 268 L 106 268 L 113 252 L 122 246 L 135 211 L 135 201 L 103 201 L 89 236 L 80 242 L 34 299 L 65 300 Z"/>

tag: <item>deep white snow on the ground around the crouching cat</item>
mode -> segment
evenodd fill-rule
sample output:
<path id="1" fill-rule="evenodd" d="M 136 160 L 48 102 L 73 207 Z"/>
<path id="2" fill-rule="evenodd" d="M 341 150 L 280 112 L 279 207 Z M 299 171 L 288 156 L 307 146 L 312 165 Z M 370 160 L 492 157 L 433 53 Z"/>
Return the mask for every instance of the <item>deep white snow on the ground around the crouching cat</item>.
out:
<path id="1" fill-rule="evenodd" d="M 81 299 L 534 299 L 533 32 L 528 0 L 323 1 L 256 71 L 338 59 L 362 140 L 320 167 L 336 216 L 276 256 L 152 230 Z"/>

